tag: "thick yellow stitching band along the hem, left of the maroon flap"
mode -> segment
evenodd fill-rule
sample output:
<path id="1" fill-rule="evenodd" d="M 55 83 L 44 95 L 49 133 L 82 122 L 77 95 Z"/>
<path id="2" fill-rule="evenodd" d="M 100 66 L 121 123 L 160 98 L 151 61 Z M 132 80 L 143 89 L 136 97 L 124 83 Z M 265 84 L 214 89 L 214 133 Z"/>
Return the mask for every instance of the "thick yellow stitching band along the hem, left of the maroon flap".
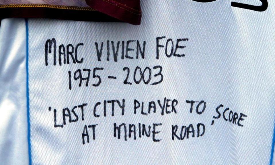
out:
<path id="1" fill-rule="evenodd" d="M 62 5 L 48 5 L 48 4 L 10 4 L 10 5 L 0 5 L 0 8 L 9 8 L 9 7 L 46 7 L 54 9 L 72 9 L 72 10 L 89 10 L 95 11 L 91 7 L 78 7 L 78 6 L 62 6 Z"/>

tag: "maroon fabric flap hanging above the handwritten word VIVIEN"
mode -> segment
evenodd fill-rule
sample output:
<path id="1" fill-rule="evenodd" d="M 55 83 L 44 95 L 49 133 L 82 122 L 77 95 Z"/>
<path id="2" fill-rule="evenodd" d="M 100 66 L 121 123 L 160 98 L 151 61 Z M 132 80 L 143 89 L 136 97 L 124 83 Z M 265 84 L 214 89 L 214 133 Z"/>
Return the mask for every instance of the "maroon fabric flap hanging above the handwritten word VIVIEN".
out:
<path id="1" fill-rule="evenodd" d="M 141 22 L 140 0 L 86 0 L 86 3 L 121 21 L 139 25 Z"/>

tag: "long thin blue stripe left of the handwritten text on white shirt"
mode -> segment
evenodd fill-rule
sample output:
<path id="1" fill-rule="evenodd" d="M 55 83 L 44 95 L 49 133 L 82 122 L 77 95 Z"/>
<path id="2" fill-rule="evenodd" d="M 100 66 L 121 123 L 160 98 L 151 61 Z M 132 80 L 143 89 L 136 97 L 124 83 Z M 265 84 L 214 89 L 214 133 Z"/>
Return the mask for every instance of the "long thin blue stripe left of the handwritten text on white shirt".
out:
<path id="1" fill-rule="evenodd" d="M 29 165 L 32 164 L 31 155 L 31 137 L 30 137 L 30 98 L 29 98 L 29 28 L 28 19 L 26 21 L 26 72 L 27 72 L 27 119 L 28 119 L 28 152 L 29 152 Z"/>

